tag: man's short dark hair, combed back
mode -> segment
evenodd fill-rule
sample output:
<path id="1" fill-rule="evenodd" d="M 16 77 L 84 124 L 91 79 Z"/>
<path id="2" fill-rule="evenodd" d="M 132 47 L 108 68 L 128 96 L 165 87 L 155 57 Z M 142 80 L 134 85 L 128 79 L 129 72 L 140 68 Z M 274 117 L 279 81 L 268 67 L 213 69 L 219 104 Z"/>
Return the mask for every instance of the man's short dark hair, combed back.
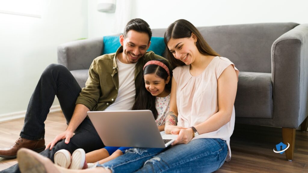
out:
<path id="1" fill-rule="evenodd" d="M 149 26 L 149 24 L 147 22 L 145 22 L 144 20 L 140 19 L 140 18 L 135 18 L 130 20 L 124 29 L 124 38 L 126 38 L 126 34 L 128 33 L 128 31 L 130 30 L 135 30 L 137 32 L 140 33 L 146 33 L 149 35 L 149 42 L 152 38 L 152 31 L 151 28 Z"/>

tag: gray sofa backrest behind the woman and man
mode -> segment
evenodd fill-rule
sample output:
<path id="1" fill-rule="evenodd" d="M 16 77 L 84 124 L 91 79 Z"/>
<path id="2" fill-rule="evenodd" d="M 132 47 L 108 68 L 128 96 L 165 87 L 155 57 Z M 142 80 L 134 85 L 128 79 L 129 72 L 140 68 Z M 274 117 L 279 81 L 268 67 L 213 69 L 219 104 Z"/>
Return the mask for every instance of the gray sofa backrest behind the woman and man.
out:
<path id="1" fill-rule="evenodd" d="M 230 59 L 240 71 L 271 73 L 271 47 L 298 23 L 255 23 L 197 27 L 209 45 Z M 152 29 L 153 37 L 164 37 L 166 29 Z"/>

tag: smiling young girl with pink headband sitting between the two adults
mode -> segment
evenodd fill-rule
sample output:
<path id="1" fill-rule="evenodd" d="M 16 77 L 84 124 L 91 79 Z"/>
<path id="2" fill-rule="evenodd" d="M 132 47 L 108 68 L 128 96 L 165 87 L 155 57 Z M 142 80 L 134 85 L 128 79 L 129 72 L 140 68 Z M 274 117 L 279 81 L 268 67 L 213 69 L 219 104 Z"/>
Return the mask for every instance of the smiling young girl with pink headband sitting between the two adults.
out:
<path id="1" fill-rule="evenodd" d="M 165 118 L 169 110 L 170 72 L 166 60 L 156 59 L 147 62 L 143 68 L 144 78 L 140 83 L 143 87 L 132 108 L 132 110 L 151 110 L 159 131 L 164 131 Z M 54 161 L 61 167 L 86 169 L 95 167 L 96 163 L 102 164 L 119 157 L 128 149 L 130 147 L 104 147 L 85 154 L 85 151 L 79 148 L 72 155 L 63 149 L 55 153 Z"/>

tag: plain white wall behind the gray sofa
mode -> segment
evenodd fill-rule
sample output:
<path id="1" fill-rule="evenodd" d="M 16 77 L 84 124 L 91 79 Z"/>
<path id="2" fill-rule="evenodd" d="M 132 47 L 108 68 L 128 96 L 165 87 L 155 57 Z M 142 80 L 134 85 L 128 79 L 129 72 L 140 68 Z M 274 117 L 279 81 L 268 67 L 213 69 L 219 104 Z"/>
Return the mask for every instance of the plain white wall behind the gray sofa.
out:
<path id="1" fill-rule="evenodd" d="M 115 34 L 111 29 L 115 14 L 98 12 L 97 0 L 42 2 L 42 18 L 0 13 L 0 118 L 26 110 L 40 74 L 48 64 L 57 63 L 58 45 Z M 180 18 L 195 26 L 308 23 L 307 6 L 304 0 L 132 0 L 128 8 L 131 18 L 143 18 L 154 29 Z"/>

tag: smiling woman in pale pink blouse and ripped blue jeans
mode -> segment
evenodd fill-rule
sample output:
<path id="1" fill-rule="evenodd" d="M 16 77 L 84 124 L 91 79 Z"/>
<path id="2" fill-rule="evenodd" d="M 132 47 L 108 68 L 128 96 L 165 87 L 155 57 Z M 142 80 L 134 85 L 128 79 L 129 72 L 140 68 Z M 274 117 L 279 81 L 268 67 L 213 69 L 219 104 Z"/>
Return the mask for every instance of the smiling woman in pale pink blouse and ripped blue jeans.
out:
<path id="1" fill-rule="evenodd" d="M 165 132 L 177 134 L 168 149 L 133 148 L 124 155 L 97 165 L 91 172 L 213 172 L 229 161 L 234 128 L 234 100 L 238 70 L 219 57 L 190 22 L 172 23 L 164 35 L 173 66 L 170 112 Z M 19 150 L 21 170 L 29 162 L 43 169 L 63 170 L 28 150 Z M 30 159 L 31 158 L 31 159 Z M 24 169 L 25 168 L 25 169 Z M 80 171 L 80 170 L 79 170 Z"/>

